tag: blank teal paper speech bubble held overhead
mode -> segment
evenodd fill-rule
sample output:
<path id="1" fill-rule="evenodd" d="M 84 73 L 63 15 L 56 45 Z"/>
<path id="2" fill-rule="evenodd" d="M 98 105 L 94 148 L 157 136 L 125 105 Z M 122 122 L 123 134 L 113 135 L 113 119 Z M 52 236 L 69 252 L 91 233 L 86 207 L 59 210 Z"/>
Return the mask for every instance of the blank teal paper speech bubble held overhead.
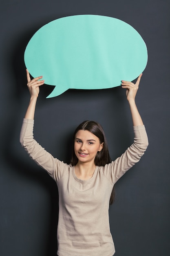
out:
<path id="1" fill-rule="evenodd" d="M 76 15 L 41 27 L 26 46 L 31 76 L 55 85 L 47 98 L 70 89 L 105 89 L 133 81 L 147 64 L 144 40 L 126 22 L 107 16 Z"/>

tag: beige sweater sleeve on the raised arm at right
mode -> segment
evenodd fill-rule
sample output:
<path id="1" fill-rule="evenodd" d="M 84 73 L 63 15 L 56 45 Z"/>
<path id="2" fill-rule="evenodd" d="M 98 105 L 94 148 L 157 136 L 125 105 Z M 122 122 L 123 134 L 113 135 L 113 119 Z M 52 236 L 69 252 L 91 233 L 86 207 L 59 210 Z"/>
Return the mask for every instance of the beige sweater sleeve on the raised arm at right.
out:
<path id="1" fill-rule="evenodd" d="M 135 165 L 144 155 L 148 147 L 148 136 L 145 126 L 134 126 L 134 141 L 126 151 L 110 164 L 104 167 L 104 175 L 115 184 L 119 178 Z"/>

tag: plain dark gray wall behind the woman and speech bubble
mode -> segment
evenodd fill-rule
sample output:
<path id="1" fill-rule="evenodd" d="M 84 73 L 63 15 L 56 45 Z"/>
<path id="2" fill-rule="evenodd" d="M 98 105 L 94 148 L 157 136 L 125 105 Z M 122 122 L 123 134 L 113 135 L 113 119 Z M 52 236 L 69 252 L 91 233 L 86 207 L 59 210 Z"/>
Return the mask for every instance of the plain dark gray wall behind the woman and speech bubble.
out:
<path id="1" fill-rule="evenodd" d="M 137 106 L 149 137 L 141 161 L 116 184 L 110 229 L 116 256 L 160 256 L 170 252 L 170 3 L 169 0 L 1 0 L 0 2 L 0 255 L 54 256 L 57 250 L 57 186 L 19 143 L 29 103 L 24 49 L 51 20 L 98 14 L 132 25 L 148 47 Z M 122 40 L 126 40 L 122 35 Z M 35 114 L 35 138 L 69 162 L 72 133 L 85 119 L 102 124 L 112 159 L 133 139 L 121 87 L 68 90 L 46 99 L 44 85 Z"/>

